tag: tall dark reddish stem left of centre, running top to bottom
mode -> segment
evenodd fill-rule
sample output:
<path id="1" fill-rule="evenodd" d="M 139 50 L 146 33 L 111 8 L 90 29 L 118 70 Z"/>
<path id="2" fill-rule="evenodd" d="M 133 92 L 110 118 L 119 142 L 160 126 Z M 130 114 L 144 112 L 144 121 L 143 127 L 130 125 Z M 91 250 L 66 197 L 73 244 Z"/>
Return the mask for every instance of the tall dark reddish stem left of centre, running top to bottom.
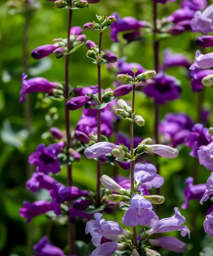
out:
<path id="1" fill-rule="evenodd" d="M 70 51 L 70 29 L 72 24 L 72 9 L 69 10 L 68 29 L 67 29 L 67 48 Z M 66 103 L 69 98 L 69 60 L 70 54 L 65 57 L 65 126 L 66 126 L 66 155 L 69 157 L 69 149 L 71 147 L 71 135 L 70 135 L 70 112 L 66 108 Z M 72 186 L 72 166 L 67 165 L 67 186 Z M 70 207 L 70 202 L 68 203 Z M 69 221 L 68 223 L 68 245 L 69 255 L 75 254 L 75 222 Z"/>

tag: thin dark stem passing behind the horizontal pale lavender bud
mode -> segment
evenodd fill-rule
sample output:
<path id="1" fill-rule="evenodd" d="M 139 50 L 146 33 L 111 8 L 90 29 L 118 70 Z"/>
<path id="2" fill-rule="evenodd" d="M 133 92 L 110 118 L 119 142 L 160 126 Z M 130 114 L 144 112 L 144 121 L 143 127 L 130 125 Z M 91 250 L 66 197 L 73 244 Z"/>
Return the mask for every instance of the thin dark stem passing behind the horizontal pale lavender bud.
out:
<path id="1" fill-rule="evenodd" d="M 102 34 L 100 33 L 99 38 L 99 54 L 101 54 L 101 44 L 102 44 Z M 101 64 L 98 64 L 98 100 L 101 102 Z M 97 113 L 97 132 L 98 132 L 98 142 L 101 142 L 101 109 L 98 109 Z M 101 163 L 97 162 L 97 205 L 101 205 Z"/>

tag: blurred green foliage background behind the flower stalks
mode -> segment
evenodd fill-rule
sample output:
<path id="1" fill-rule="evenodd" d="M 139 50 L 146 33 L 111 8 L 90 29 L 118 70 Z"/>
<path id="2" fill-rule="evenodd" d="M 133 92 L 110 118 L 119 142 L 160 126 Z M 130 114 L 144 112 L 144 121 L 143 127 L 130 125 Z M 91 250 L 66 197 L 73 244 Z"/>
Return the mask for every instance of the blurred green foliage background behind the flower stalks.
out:
<path id="1" fill-rule="evenodd" d="M 37 46 L 51 44 L 52 39 L 66 37 L 68 11 L 54 8 L 51 2 L 38 1 L 40 8 L 30 22 L 28 51 Z M 179 8 L 178 2 L 159 4 L 159 18 L 171 14 Z M 86 22 L 95 20 L 95 14 L 109 16 L 112 12 L 118 12 L 121 17 L 134 16 L 139 20 L 152 22 L 152 1 L 150 0 L 102 0 L 99 4 L 90 4 L 90 8 L 73 12 L 72 26 L 83 26 Z M 26 220 L 19 216 L 19 208 L 24 200 L 33 202 L 38 199 L 48 199 L 48 193 L 39 192 L 37 195 L 27 191 L 27 157 L 33 152 L 39 143 L 46 143 L 46 132 L 49 131 L 48 111 L 51 107 L 58 110 L 58 119 L 54 126 L 65 130 L 64 104 L 63 102 L 50 101 L 46 105 L 39 106 L 39 94 L 32 95 L 33 102 L 33 129 L 28 135 L 25 120 L 25 103 L 19 104 L 19 92 L 21 89 L 22 67 L 22 36 L 25 18 L 21 14 L 11 13 L 6 1 L 1 0 L 0 5 L 0 255 L 23 256 L 30 254 L 31 244 L 35 244 L 48 234 L 54 245 L 64 248 L 66 246 L 67 227 L 60 223 L 52 223 L 45 216 L 38 216 L 30 224 L 30 232 L 26 235 Z M 110 41 L 110 30 L 103 34 L 103 49 L 116 49 L 117 46 Z M 87 39 L 98 42 L 98 33 L 85 32 Z M 172 36 L 164 39 L 160 45 L 162 52 L 165 47 L 171 47 L 173 52 L 180 52 L 194 60 L 197 49 L 195 39 L 197 35 L 186 32 L 181 36 Z M 86 58 L 87 49 L 82 46 L 71 55 L 69 69 L 70 84 L 72 86 L 89 86 L 97 84 L 96 65 Z M 116 53 L 116 52 L 115 52 Z M 138 62 L 147 69 L 153 69 L 152 43 L 148 39 L 133 42 L 126 46 L 125 56 L 128 62 Z M 52 54 L 49 57 L 36 61 L 29 59 L 30 69 L 28 78 L 43 76 L 48 80 L 64 81 L 65 59 L 56 59 Z M 191 92 L 190 79 L 187 78 L 183 68 L 171 68 L 170 75 L 178 78 L 182 83 L 183 92 L 179 100 L 166 103 L 161 108 L 161 119 L 168 112 L 185 112 L 196 119 L 197 94 Z M 103 87 L 110 87 L 115 77 L 105 67 L 102 68 Z M 130 99 L 131 93 L 125 97 Z M 212 108 L 213 91 L 207 88 L 205 104 Z M 135 135 L 141 137 L 153 137 L 154 108 L 151 99 L 147 99 L 142 92 L 136 93 L 137 112 L 144 117 L 146 125 L 142 128 L 135 127 Z M 81 115 L 81 109 L 71 113 L 72 130 Z M 212 115 L 210 123 L 212 124 Z M 121 130 L 129 133 L 129 127 L 125 120 L 121 123 Z M 161 175 L 165 182 L 161 194 L 165 197 L 165 203 L 159 212 L 160 218 L 173 215 L 174 206 L 184 202 L 183 189 L 186 177 L 193 175 L 193 159 L 189 156 L 190 149 L 183 147 L 177 159 L 161 158 Z M 112 175 L 112 168 L 106 164 L 103 173 Z M 129 175 L 129 171 L 119 169 L 122 175 Z M 199 183 L 206 183 L 210 173 L 204 167 L 199 166 Z M 57 179 L 66 184 L 65 168 L 57 176 Z M 88 160 L 84 156 L 79 163 L 73 164 L 74 185 L 82 189 L 95 190 L 96 186 L 96 162 Z M 211 247 L 212 239 L 206 236 L 203 230 L 205 212 L 211 205 L 209 200 L 203 206 L 198 200 L 191 201 L 187 210 L 181 213 L 186 217 L 185 225 L 191 230 L 191 238 L 181 238 L 187 243 L 186 255 L 199 255 L 203 247 Z M 196 212 L 196 218 L 194 214 Z M 107 220 L 121 222 L 122 212 L 114 215 L 104 214 Z M 90 237 L 84 233 L 85 223 L 77 221 L 76 239 L 89 242 Z M 179 232 L 171 232 L 169 235 L 179 237 Z M 206 256 L 213 255 L 213 250 L 208 249 Z M 176 253 L 163 251 L 162 255 L 176 255 Z M 179 254 L 180 255 L 180 254 Z"/>

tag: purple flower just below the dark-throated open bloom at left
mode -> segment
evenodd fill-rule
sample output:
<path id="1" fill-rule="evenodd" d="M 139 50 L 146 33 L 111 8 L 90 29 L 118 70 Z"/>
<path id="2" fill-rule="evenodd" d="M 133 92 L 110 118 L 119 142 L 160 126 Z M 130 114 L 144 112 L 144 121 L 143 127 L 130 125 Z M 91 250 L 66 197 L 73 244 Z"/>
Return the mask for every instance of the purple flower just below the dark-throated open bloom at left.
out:
<path id="1" fill-rule="evenodd" d="M 42 172 L 34 172 L 32 177 L 27 180 L 26 188 L 34 193 L 37 193 L 38 188 L 50 190 L 55 188 L 56 184 L 57 180 L 53 179 L 52 177 L 45 175 Z"/>

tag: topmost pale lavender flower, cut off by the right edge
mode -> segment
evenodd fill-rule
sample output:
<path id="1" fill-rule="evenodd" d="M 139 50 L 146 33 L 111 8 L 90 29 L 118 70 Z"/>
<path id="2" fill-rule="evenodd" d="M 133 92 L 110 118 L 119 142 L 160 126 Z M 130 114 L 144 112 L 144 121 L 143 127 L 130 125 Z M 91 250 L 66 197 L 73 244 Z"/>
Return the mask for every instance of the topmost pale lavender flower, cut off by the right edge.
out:
<path id="1" fill-rule="evenodd" d="M 200 31 L 203 34 L 211 33 L 213 20 L 213 4 L 210 4 L 203 12 L 196 11 L 191 20 L 192 31 Z M 210 68 L 210 67 L 209 67 Z"/>

